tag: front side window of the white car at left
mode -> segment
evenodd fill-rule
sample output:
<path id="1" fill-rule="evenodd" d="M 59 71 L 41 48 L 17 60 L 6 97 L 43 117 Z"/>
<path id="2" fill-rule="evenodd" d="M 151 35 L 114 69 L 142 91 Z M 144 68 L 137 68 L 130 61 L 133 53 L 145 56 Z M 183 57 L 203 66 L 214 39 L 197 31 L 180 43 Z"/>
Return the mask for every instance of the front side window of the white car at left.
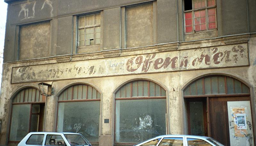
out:
<path id="1" fill-rule="evenodd" d="M 47 146 L 66 146 L 61 135 L 48 134 L 46 136 L 45 145 Z"/>

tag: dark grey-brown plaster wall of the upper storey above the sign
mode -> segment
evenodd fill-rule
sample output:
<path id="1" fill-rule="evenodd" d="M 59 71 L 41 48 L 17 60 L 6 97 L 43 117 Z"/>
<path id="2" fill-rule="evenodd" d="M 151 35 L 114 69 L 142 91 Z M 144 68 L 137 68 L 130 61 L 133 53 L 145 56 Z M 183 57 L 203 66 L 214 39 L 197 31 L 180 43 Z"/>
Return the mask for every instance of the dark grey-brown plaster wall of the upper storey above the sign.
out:
<path id="1" fill-rule="evenodd" d="M 6 23 L 6 30 L 8 31 L 6 31 L 5 37 L 4 62 L 18 60 L 19 26 L 44 20 L 49 20 L 51 23 L 50 53 L 48 56 L 205 39 L 255 32 L 256 30 L 255 25 L 253 25 L 256 20 L 256 15 L 254 15 L 256 6 L 253 0 L 237 2 L 216 0 L 218 30 L 186 35 L 183 32 L 182 1 L 149 1 L 110 0 L 105 2 L 96 0 L 84 3 L 82 0 L 78 0 L 69 3 L 65 0 L 58 3 L 58 1 L 51 0 L 6 0 L 6 2 L 12 3 L 8 5 Z M 152 5 L 149 7 L 145 2 Z M 141 4 L 141 7 L 130 7 L 138 3 Z M 120 10 L 122 11 L 119 12 Z M 131 18 L 128 15 L 129 11 L 132 12 Z M 77 49 L 76 17 L 93 12 L 103 14 L 101 24 L 102 43 L 97 46 Z M 125 15 L 127 18 L 125 18 Z M 103 22 L 104 19 L 106 20 L 105 23 Z"/>

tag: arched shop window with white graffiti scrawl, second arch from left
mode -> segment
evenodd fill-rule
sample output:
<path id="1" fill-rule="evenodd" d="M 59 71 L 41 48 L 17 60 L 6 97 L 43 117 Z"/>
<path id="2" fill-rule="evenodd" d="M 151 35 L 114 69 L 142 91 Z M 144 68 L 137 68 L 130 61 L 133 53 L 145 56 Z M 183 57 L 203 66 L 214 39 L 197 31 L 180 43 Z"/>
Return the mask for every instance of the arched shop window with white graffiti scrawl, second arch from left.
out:
<path id="1" fill-rule="evenodd" d="M 57 132 L 81 133 L 98 142 L 101 94 L 90 85 L 73 85 L 58 98 Z"/>

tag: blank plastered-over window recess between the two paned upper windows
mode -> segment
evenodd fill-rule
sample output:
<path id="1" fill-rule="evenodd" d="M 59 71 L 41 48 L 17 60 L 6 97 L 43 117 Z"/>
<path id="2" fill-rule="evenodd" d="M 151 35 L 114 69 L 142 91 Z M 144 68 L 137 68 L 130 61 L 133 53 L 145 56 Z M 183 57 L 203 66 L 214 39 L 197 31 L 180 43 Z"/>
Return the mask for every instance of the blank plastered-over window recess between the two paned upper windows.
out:
<path id="1" fill-rule="evenodd" d="M 152 45 L 153 3 L 126 7 L 126 47 Z"/>

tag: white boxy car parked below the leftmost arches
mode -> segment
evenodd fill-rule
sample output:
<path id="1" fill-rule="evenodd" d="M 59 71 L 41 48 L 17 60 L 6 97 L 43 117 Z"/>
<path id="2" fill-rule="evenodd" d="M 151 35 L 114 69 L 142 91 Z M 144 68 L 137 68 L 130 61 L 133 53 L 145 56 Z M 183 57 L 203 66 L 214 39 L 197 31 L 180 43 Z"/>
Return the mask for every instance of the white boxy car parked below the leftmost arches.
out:
<path id="1" fill-rule="evenodd" d="M 65 132 L 31 132 L 18 146 L 92 146 L 81 134 Z"/>

